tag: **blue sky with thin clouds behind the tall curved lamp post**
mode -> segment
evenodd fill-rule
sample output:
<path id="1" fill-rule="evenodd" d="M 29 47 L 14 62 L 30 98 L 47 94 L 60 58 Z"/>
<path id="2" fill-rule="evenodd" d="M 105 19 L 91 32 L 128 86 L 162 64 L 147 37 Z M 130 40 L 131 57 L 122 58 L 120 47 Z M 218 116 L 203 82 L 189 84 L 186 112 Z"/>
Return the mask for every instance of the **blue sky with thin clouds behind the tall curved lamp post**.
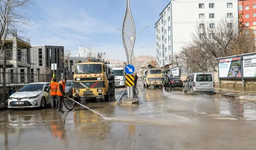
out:
<path id="1" fill-rule="evenodd" d="M 156 57 L 154 27 L 168 2 L 130 0 L 136 34 L 149 26 L 135 40 L 136 56 Z M 121 31 L 115 29 L 122 28 L 125 4 L 125 0 L 36 0 L 27 10 L 33 24 L 27 33 L 30 44 L 64 46 L 71 50 L 71 56 L 78 54 L 82 44 L 105 52 L 105 59 L 125 61 Z"/>

